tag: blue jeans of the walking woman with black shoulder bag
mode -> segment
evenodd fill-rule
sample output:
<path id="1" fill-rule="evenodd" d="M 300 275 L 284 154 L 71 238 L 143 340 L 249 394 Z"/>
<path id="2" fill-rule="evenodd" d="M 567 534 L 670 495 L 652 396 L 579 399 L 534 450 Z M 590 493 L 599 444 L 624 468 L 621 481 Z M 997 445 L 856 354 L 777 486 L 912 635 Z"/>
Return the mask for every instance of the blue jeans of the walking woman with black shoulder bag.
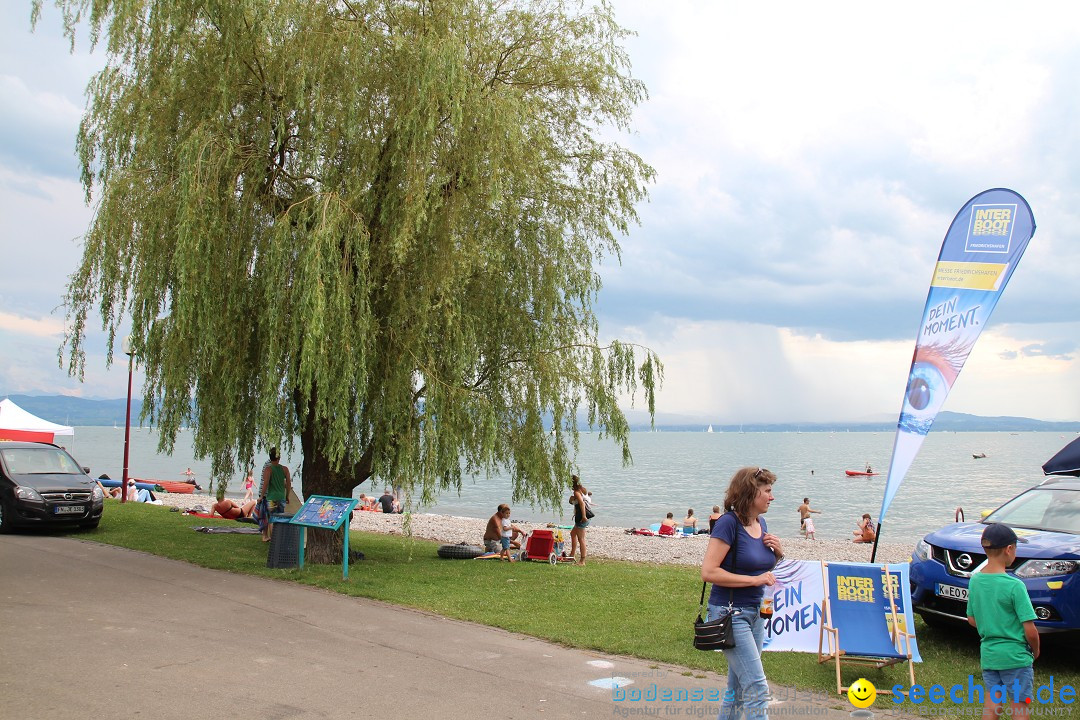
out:
<path id="1" fill-rule="evenodd" d="M 727 606 L 708 606 L 708 620 L 716 617 Z M 768 720 L 769 681 L 765 679 L 761 666 L 761 644 L 765 640 L 765 620 L 757 613 L 757 607 L 735 606 L 731 615 L 731 631 L 735 636 L 735 647 L 725 650 L 728 661 L 728 687 L 724 691 L 724 702 L 717 720 Z M 744 715 L 745 714 L 745 715 Z"/>

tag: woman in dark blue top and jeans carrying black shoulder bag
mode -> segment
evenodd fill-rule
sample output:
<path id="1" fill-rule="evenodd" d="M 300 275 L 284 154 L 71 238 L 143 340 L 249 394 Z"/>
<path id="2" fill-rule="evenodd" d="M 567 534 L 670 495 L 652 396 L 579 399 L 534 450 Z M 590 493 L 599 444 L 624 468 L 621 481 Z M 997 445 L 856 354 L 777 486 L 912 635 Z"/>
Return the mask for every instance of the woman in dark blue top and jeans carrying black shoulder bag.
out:
<path id="1" fill-rule="evenodd" d="M 708 619 L 729 603 L 734 607 L 735 647 L 724 651 L 728 687 L 717 720 L 741 717 L 744 709 L 747 720 L 769 717 L 769 682 L 761 665 L 765 621 L 758 610 L 765 587 L 777 582 L 772 568 L 784 556 L 780 538 L 769 533 L 761 517 L 772 502 L 775 481 L 777 476 L 764 467 L 735 472 L 724 498 L 727 512 L 713 527 L 701 565 L 701 579 L 713 583 Z M 732 545 L 735 552 L 729 553 Z"/>

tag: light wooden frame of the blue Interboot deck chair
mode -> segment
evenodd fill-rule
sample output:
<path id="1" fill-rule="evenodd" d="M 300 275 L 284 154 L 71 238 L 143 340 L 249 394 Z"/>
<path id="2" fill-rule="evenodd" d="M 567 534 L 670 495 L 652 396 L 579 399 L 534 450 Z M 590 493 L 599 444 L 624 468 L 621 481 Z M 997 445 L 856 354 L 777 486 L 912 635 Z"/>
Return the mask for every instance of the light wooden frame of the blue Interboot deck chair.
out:
<path id="1" fill-rule="evenodd" d="M 859 653 L 854 651 L 845 650 L 845 643 L 841 641 L 842 621 L 837 623 L 833 619 L 833 595 L 832 586 L 828 580 L 828 567 L 833 566 L 849 566 L 847 562 L 822 562 L 821 563 L 821 574 L 822 584 L 825 588 L 825 599 L 823 601 L 822 615 L 824 616 L 821 631 L 818 637 L 818 663 L 824 664 L 832 661 L 836 665 L 836 693 L 842 695 L 848 692 L 848 687 L 845 687 L 840 679 L 840 664 L 846 663 L 850 665 L 864 665 L 880 669 L 882 667 L 889 667 L 890 665 L 896 665 L 897 663 L 907 663 L 908 688 L 915 684 L 915 663 L 912 660 L 912 639 L 915 637 L 914 634 L 907 633 L 900 629 L 900 623 L 897 622 L 896 613 L 896 602 L 892 593 L 885 592 L 885 583 L 881 582 L 881 575 L 890 578 L 889 566 L 881 566 L 881 573 L 875 572 L 874 588 L 876 592 L 885 593 L 886 597 L 889 598 L 889 614 L 881 616 L 882 625 L 888 623 L 889 637 L 892 640 L 892 646 L 895 650 L 895 654 L 892 655 L 878 655 L 873 653 Z M 852 566 L 856 567 L 856 566 Z M 866 566 L 858 566 L 865 568 Z M 899 588 L 897 588 L 899 592 Z M 828 641 L 828 652 L 825 652 L 826 638 Z M 846 638 L 845 638 L 846 639 Z M 855 643 L 858 644 L 858 643 Z M 850 644 L 848 647 L 851 647 Z M 891 690 L 878 690 L 879 695 L 892 695 Z"/>

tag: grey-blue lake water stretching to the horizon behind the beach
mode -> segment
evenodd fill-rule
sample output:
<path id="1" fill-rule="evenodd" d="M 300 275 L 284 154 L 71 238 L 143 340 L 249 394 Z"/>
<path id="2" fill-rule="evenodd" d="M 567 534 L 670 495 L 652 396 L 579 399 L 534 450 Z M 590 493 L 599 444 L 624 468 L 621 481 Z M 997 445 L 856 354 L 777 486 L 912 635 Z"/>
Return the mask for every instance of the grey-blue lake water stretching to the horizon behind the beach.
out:
<path id="1" fill-rule="evenodd" d="M 1040 466 L 1072 435 L 1061 433 L 933 433 L 927 437 L 886 516 L 882 540 L 915 542 L 926 532 L 953 521 L 962 506 L 969 519 L 983 508 L 995 507 L 1042 477 Z M 134 477 L 184 479 L 188 467 L 206 486 L 210 461 L 197 460 L 191 435 L 177 438 L 172 456 L 157 452 L 157 434 L 132 429 L 130 474 Z M 66 439 L 66 438 L 60 438 Z M 578 457 L 582 483 L 596 503 L 594 524 L 611 527 L 646 527 L 666 513 L 681 519 L 687 508 L 704 519 L 720 504 L 732 472 L 743 465 L 760 465 L 777 473 L 775 501 L 766 518 L 770 530 L 782 536 L 798 532 L 796 508 L 804 497 L 821 510 L 814 516 L 818 538 L 851 536 L 855 520 L 869 513 L 877 519 L 885 490 L 885 476 L 848 477 L 845 470 L 862 470 L 870 463 L 885 472 L 892 453 L 892 433 L 634 433 L 634 464 L 623 467 L 618 447 L 596 435 L 581 436 Z M 122 476 L 123 429 L 77 427 L 71 453 L 89 465 L 97 477 Z M 973 453 L 985 452 L 975 460 Z M 291 467 L 299 458 L 286 458 Z M 242 475 L 229 485 L 230 495 L 243 493 Z M 299 485 L 299 484 L 297 484 Z M 299 492 L 300 487 L 296 488 Z M 382 485 L 375 486 L 381 492 Z M 370 492 L 365 483 L 356 490 Z M 510 500 L 504 477 L 467 478 L 460 493 L 448 492 L 422 512 L 488 517 L 500 502 Z M 564 518 L 569 517 L 565 505 Z M 516 519 L 557 520 L 555 511 L 514 506 Z"/>

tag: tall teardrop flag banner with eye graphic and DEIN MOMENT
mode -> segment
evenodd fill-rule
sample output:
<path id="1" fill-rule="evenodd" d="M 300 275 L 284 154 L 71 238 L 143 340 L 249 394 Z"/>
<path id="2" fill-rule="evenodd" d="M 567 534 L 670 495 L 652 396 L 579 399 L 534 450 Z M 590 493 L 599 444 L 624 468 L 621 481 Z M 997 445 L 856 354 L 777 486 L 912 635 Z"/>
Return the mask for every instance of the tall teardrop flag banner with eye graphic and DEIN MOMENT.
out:
<path id="1" fill-rule="evenodd" d="M 953 219 L 915 340 L 879 524 L 1034 233 L 1027 201 L 1004 188 L 978 193 Z"/>

